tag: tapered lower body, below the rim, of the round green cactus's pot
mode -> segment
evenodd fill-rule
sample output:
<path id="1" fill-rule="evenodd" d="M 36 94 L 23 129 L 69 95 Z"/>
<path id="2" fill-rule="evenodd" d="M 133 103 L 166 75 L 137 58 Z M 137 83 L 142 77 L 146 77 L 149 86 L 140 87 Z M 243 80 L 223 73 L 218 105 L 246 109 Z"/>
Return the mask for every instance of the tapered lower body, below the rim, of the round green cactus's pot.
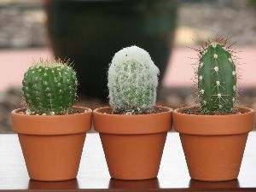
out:
<path id="1" fill-rule="evenodd" d="M 61 136 L 19 134 L 29 177 L 65 181 L 77 177 L 85 133 Z"/>

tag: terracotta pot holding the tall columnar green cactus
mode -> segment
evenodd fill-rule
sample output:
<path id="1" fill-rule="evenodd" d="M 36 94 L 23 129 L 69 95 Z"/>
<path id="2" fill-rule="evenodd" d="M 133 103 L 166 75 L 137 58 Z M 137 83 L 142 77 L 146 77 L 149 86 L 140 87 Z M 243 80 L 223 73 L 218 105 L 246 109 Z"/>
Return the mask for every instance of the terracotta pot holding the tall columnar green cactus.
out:
<path id="1" fill-rule="evenodd" d="M 174 129 L 180 133 L 190 177 L 201 181 L 227 181 L 239 174 L 248 132 L 253 130 L 253 109 L 241 114 L 194 115 L 173 113 Z"/>

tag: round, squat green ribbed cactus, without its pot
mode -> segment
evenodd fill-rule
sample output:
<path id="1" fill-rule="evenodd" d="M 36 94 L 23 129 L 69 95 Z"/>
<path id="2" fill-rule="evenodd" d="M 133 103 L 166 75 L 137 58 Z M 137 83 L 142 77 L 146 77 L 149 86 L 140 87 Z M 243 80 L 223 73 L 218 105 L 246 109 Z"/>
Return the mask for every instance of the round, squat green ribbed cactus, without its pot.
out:
<path id="1" fill-rule="evenodd" d="M 22 81 L 22 96 L 33 113 L 68 113 L 76 99 L 78 80 L 63 61 L 38 61 Z"/>

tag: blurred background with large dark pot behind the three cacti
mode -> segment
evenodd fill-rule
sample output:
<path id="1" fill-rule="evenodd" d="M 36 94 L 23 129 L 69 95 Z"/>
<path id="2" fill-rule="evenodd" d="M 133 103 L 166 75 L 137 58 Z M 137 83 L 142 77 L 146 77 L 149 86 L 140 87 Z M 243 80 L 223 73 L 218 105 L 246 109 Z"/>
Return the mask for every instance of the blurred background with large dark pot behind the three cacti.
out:
<path id="1" fill-rule="evenodd" d="M 158 104 L 195 104 L 198 48 L 208 37 L 236 42 L 239 103 L 256 109 L 256 0 L 0 0 L 0 133 L 20 108 L 23 73 L 39 58 L 70 58 L 77 105 L 108 105 L 108 63 L 136 44 L 160 68 Z"/>

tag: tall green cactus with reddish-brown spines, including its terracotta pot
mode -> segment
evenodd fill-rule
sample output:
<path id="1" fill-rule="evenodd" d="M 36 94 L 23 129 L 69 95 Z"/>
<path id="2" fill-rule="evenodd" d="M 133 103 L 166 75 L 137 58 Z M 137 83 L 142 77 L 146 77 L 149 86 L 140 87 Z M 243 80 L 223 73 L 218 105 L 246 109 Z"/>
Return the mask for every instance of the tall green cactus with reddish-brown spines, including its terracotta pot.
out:
<path id="1" fill-rule="evenodd" d="M 177 108 L 179 132 L 190 177 L 201 181 L 236 179 L 253 109 L 236 107 L 234 51 L 225 38 L 209 38 L 199 49 L 196 69 L 200 107 Z"/>

